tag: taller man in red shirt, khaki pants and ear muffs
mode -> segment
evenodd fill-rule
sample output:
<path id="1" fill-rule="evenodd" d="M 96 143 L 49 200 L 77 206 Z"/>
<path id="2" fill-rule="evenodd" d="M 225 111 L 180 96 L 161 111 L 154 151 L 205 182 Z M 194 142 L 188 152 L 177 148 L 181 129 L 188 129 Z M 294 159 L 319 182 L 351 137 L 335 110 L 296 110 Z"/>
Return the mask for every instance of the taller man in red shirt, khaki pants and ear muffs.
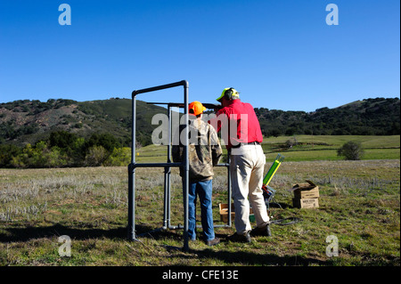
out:
<path id="1" fill-rule="evenodd" d="M 240 100 L 233 88 L 225 88 L 217 98 L 222 109 L 209 123 L 221 132 L 230 155 L 231 181 L 236 232 L 231 241 L 250 242 L 250 236 L 270 236 L 269 216 L 263 197 L 262 183 L 266 156 L 260 143 L 263 135 L 250 103 Z M 250 204 L 257 227 L 251 230 Z"/>

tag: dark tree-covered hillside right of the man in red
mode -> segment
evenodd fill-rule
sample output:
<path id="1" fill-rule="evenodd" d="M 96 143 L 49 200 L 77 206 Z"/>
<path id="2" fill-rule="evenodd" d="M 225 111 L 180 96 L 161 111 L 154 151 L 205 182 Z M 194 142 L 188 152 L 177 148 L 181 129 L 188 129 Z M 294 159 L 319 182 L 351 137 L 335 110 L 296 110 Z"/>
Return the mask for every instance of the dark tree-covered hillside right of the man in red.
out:
<path id="1" fill-rule="evenodd" d="M 316 135 L 392 135 L 400 134 L 398 98 L 353 101 L 335 109 L 313 112 L 256 109 L 266 136 Z"/>

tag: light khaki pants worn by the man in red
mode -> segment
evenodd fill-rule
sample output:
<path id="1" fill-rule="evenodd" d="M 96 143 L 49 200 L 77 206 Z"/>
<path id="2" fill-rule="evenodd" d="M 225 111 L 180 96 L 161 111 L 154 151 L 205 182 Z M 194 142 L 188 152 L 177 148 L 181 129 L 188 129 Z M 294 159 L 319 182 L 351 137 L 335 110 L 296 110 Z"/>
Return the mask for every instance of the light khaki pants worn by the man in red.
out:
<path id="1" fill-rule="evenodd" d="M 262 183 L 266 156 L 260 145 L 243 145 L 231 151 L 231 181 L 238 234 L 251 230 L 250 205 L 258 227 L 269 222 Z"/>

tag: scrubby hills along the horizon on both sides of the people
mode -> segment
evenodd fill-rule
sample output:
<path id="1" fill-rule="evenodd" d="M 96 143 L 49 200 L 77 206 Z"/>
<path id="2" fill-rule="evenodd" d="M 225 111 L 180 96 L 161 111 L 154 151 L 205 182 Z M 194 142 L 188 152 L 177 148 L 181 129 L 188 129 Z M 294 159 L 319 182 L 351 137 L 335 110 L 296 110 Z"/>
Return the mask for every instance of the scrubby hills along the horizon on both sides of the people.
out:
<path id="1" fill-rule="evenodd" d="M 266 136 L 292 134 L 400 134 L 399 99 L 366 99 L 339 108 L 314 112 L 255 109 Z M 151 118 L 166 113 L 159 106 L 137 101 L 137 140 L 151 143 Z M 67 131 L 87 138 L 112 134 L 129 145 L 131 100 L 12 101 L 0 104 L 0 144 L 22 146 L 47 140 L 52 132 Z"/>

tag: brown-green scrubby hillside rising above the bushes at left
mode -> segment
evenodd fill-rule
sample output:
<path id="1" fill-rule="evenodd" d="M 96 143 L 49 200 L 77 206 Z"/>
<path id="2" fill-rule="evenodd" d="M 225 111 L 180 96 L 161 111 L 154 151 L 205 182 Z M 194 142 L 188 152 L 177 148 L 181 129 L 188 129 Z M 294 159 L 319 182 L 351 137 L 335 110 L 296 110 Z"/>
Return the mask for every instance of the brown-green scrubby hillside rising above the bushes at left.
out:
<path id="1" fill-rule="evenodd" d="M 159 106 L 136 101 L 138 142 L 151 142 L 151 118 L 166 113 Z M 47 139 L 52 132 L 67 131 L 81 137 L 112 134 L 122 144 L 130 142 L 131 100 L 12 101 L 0 104 L 0 144 L 22 145 Z"/>

